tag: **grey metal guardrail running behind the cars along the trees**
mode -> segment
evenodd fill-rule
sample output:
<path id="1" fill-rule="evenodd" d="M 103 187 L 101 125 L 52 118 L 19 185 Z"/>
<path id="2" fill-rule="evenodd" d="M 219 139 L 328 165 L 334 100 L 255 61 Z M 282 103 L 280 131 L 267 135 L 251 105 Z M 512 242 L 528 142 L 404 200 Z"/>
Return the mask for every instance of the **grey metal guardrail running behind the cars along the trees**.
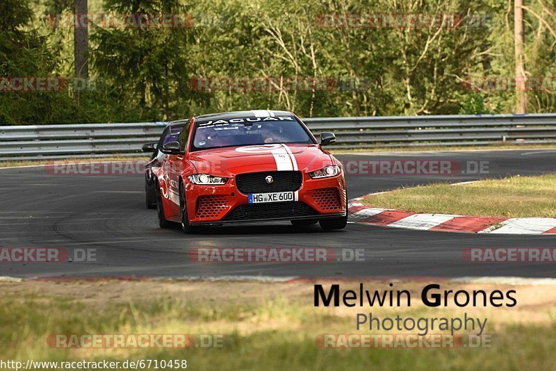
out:
<path id="1" fill-rule="evenodd" d="M 313 117 L 318 136 L 334 131 L 336 149 L 556 143 L 556 114 L 405 117 Z M 33 158 L 141 156 L 166 122 L 0 126 L 0 161 Z"/>

